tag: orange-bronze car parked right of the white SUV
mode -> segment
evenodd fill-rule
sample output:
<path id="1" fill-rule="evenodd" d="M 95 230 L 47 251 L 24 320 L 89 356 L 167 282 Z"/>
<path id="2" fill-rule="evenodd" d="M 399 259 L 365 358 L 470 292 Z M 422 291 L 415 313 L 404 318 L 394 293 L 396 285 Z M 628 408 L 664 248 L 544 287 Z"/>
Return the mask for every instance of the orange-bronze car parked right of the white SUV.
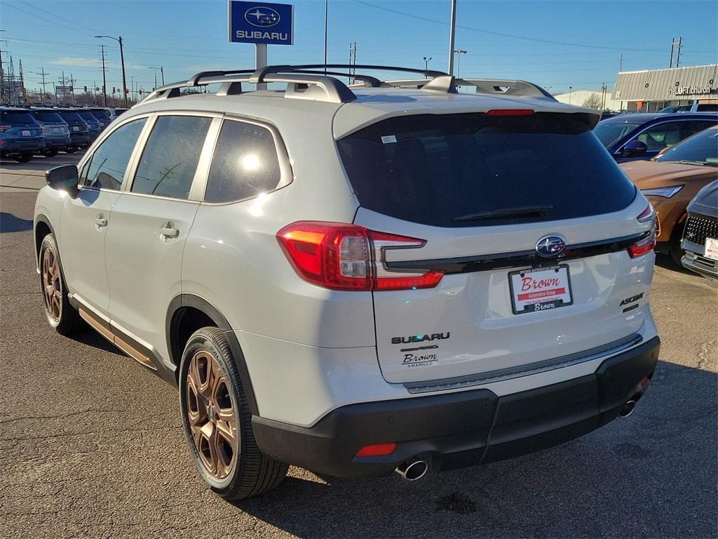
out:
<path id="1" fill-rule="evenodd" d="M 704 185 L 718 179 L 718 126 L 694 134 L 650 161 L 619 166 L 656 211 L 656 251 L 681 264 L 686 206 Z"/>

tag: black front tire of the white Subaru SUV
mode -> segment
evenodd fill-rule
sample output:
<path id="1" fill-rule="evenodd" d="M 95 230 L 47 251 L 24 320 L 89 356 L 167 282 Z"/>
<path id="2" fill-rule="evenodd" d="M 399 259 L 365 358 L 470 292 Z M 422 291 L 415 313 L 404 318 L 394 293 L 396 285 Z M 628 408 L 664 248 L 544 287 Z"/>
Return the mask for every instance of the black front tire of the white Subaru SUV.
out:
<path id="1" fill-rule="evenodd" d="M 48 252 L 50 255 L 48 255 Z M 70 305 L 70 300 L 67 299 L 65 274 L 62 273 L 62 263 L 60 262 L 59 253 L 60 250 L 57 249 L 55 236 L 47 234 L 47 236 L 42 239 L 39 252 L 39 284 L 40 292 L 42 293 L 42 308 L 45 311 L 47 323 L 49 323 L 52 328 L 55 328 L 57 333 L 60 333 L 60 335 L 70 335 L 71 333 L 83 330 L 85 328 L 85 323 L 83 319 L 80 318 L 80 313 L 78 313 L 78 311 Z M 54 303 L 49 300 L 48 293 L 46 292 L 47 288 L 45 279 L 46 275 L 48 275 L 47 267 L 45 265 L 46 256 L 52 256 L 55 264 L 57 264 L 56 279 L 52 280 L 54 282 L 53 286 L 57 292 L 55 294 L 56 300 Z"/>

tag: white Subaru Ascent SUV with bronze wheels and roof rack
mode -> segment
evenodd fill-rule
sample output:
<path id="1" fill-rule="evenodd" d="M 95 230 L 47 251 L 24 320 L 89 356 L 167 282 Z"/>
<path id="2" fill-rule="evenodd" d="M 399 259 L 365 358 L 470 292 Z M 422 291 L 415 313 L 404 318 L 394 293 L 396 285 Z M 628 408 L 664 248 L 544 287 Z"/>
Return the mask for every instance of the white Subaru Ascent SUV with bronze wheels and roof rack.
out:
<path id="1" fill-rule="evenodd" d="M 596 111 L 349 67 L 159 88 L 37 196 L 47 321 L 179 387 L 223 497 L 289 464 L 416 480 L 553 446 L 630 415 L 656 368 L 655 216 Z"/>

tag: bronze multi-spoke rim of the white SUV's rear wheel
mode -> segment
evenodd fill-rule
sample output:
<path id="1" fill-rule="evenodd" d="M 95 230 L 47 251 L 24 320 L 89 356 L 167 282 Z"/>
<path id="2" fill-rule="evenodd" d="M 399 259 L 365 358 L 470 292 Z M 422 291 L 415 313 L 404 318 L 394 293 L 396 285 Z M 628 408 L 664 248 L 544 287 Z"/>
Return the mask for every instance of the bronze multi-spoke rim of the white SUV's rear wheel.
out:
<path id="1" fill-rule="evenodd" d="M 202 466 L 224 479 L 238 458 L 236 413 L 227 377 L 207 350 L 197 351 L 190 361 L 187 420 Z"/>

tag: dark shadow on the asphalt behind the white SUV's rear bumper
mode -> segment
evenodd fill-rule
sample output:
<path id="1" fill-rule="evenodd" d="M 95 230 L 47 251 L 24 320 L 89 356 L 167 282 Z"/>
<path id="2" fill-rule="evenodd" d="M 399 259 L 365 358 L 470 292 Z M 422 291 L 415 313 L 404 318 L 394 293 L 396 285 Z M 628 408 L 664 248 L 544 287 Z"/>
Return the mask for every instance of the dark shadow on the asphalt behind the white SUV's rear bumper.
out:
<path id="1" fill-rule="evenodd" d="M 289 476 L 231 503 L 302 538 L 716 536 L 718 377 L 664 359 L 630 418 L 562 446 L 414 483 Z"/>

